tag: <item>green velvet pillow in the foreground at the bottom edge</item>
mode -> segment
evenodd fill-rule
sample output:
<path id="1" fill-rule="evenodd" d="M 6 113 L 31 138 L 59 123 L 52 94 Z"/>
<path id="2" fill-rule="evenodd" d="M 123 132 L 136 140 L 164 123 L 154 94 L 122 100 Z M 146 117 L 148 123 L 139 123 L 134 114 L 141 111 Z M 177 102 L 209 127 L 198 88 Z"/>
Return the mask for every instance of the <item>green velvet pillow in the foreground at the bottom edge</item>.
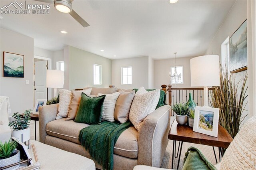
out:
<path id="1" fill-rule="evenodd" d="M 217 170 L 198 148 L 189 147 L 185 156 L 182 170 Z"/>

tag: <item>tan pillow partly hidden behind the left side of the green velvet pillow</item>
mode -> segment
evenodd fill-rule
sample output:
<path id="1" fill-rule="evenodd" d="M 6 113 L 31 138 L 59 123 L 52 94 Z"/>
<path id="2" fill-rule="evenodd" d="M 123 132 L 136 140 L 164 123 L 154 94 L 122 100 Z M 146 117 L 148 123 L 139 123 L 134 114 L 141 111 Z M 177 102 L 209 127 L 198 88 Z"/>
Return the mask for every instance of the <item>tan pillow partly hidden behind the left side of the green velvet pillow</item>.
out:
<path id="1" fill-rule="evenodd" d="M 67 117 L 67 119 L 65 119 L 65 121 L 70 121 L 70 120 L 75 119 L 76 112 L 78 110 L 78 106 L 79 106 L 79 103 L 81 100 L 82 92 L 85 93 L 86 95 L 90 96 L 91 91 L 92 91 L 92 88 L 89 88 L 86 90 L 79 90 L 79 91 L 72 90 L 72 97 L 71 97 L 71 102 L 69 105 L 68 117 Z"/>

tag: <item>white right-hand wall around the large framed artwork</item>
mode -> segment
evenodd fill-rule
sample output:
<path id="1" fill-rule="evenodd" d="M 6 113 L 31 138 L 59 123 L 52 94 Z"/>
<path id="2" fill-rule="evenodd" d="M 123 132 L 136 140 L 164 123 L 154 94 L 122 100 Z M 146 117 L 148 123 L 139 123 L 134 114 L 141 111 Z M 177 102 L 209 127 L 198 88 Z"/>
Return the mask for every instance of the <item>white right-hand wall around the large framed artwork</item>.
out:
<path id="1" fill-rule="evenodd" d="M 223 22 L 222 26 L 219 28 L 218 32 L 216 33 L 214 39 L 212 40 L 211 44 L 209 45 L 206 54 L 217 54 L 221 56 L 221 44 L 226 40 L 227 37 L 232 36 L 234 32 L 240 27 L 240 25 L 246 20 L 246 11 L 247 11 L 247 2 L 246 1 L 236 1 L 232 9 L 230 10 L 226 20 Z M 220 57 L 221 58 L 221 57 Z M 241 77 L 244 77 L 246 71 L 242 71 L 239 73 L 235 73 L 236 75 L 236 82 L 238 82 Z M 248 82 L 247 82 L 248 83 Z M 248 98 L 244 103 L 248 101 Z M 246 110 L 249 109 L 247 105 Z M 250 113 L 250 112 L 249 112 Z M 243 116 L 247 115 L 248 111 L 243 112 Z M 250 113 L 250 116 L 253 113 Z M 245 119 L 247 120 L 249 116 Z"/>

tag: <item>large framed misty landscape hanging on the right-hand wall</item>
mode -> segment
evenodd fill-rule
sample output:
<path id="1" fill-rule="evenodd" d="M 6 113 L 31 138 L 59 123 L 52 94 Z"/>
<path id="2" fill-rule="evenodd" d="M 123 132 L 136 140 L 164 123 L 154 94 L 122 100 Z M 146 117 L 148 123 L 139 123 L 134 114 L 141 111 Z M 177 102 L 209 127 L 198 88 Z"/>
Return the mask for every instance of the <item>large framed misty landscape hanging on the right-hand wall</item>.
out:
<path id="1" fill-rule="evenodd" d="M 236 30 L 229 39 L 230 72 L 237 73 L 247 70 L 247 23 Z"/>

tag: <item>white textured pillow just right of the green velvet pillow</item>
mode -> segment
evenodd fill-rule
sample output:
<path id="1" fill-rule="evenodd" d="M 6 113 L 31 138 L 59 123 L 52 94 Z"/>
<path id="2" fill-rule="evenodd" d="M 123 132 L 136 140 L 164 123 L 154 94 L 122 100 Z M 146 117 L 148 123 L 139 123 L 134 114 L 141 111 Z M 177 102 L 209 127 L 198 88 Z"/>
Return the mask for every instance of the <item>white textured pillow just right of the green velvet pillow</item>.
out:
<path id="1" fill-rule="evenodd" d="M 102 96 L 104 94 L 99 93 L 97 97 Z M 103 102 L 103 109 L 102 109 L 102 119 L 105 121 L 114 122 L 114 111 L 116 107 L 116 100 L 119 97 L 120 93 L 116 92 L 113 94 L 107 94 L 104 102 Z"/>

